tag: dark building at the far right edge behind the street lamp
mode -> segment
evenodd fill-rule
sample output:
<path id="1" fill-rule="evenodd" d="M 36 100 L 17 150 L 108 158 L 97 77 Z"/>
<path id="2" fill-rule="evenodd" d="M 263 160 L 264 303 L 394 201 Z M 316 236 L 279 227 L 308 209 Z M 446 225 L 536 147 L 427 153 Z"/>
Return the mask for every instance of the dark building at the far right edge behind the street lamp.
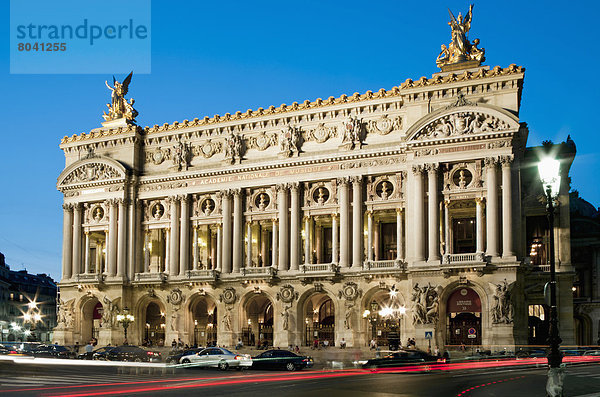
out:
<path id="1" fill-rule="evenodd" d="M 579 345 L 600 344 L 600 211 L 571 193 L 571 249 L 575 268 L 575 338 Z"/>

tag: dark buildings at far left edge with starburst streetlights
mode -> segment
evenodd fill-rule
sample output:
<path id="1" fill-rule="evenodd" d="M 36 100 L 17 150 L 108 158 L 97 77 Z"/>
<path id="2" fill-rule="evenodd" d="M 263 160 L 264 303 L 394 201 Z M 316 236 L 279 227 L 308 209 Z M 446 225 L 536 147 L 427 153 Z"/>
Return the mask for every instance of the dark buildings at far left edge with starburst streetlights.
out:
<path id="1" fill-rule="evenodd" d="M 52 341 L 56 327 L 55 281 L 46 274 L 14 271 L 0 254 L 0 327 L 3 341 Z"/>

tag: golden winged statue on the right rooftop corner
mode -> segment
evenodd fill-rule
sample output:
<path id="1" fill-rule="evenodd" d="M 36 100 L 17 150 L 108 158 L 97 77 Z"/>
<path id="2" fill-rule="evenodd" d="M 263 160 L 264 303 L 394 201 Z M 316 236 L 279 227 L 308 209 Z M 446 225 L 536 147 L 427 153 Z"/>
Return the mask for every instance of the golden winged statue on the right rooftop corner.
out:
<path id="1" fill-rule="evenodd" d="M 477 48 L 479 39 L 475 39 L 473 42 L 469 41 L 469 30 L 471 30 L 471 21 L 473 20 L 473 4 L 470 5 L 464 18 L 461 13 L 455 18 L 450 9 L 448 9 L 448 13 L 450 14 L 448 25 L 452 30 L 452 41 L 448 46 L 442 44 L 442 49 L 436 59 L 437 66 L 442 70 L 446 65 L 462 62 L 479 66 L 481 62 L 485 61 L 485 49 Z"/>

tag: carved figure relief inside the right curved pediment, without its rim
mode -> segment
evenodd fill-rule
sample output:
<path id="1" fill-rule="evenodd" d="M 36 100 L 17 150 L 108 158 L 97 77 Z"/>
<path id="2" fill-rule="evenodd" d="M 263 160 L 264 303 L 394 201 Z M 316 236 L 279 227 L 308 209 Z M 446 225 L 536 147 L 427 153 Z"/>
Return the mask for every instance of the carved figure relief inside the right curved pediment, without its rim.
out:
<path id="1" fill-rule="evenodd" d="M 488 131 L 503 131 L 508 128 L 508 124 L 497 117 L 484 113 L 460 112 L 433 121 L 419 132 L 416 139 L 447 138 Z"/>

